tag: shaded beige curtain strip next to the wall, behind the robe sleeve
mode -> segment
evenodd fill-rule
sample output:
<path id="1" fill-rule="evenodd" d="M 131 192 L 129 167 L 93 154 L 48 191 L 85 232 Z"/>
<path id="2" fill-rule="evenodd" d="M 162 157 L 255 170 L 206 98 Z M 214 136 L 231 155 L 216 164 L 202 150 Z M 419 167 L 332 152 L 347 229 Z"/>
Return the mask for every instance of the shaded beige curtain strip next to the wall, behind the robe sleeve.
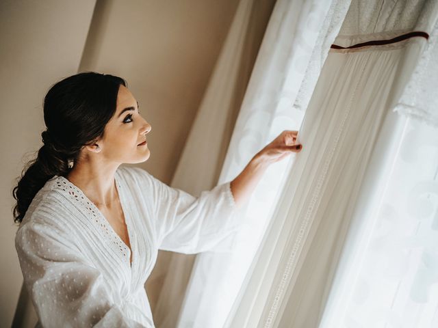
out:
<path id="1" fill-rule="evenodd" d="M 214 187 L 218 181 L 231 131 L 274 3 L 274 0 L 241 0 L 238 3 L 172 178 L 172 187 L 198 195 Z M 157 327 L 176 327 L 194 257 L 159 251 L 157 265 L 146 284 L 148 290 L 158 290 L 153 307 Z M 159 290 L 157 286 L 161 285 Z"/>

